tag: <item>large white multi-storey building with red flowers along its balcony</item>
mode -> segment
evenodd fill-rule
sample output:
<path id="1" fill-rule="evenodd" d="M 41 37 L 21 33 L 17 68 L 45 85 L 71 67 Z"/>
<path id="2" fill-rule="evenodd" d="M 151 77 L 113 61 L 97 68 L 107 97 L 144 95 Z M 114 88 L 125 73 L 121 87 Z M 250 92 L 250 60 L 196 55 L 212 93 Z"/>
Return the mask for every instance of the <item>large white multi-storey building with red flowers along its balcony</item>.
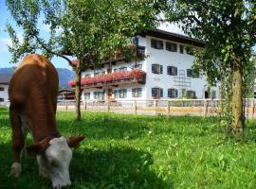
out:
<path id="1" fill-rule="evenodd" d="M 187 36 L 155 29 L 135 38 L 139 62 L 116 60 L 99 70 L 82 73 L 82 100 L 215 98 L 217 87 L 208 87 L 205 77 L 192 73 L 191 46 L 204 43 Z M 140 69 L 141 71 L 137 71 Z M 69 82 L 74 86 L 74 80 Z"/>

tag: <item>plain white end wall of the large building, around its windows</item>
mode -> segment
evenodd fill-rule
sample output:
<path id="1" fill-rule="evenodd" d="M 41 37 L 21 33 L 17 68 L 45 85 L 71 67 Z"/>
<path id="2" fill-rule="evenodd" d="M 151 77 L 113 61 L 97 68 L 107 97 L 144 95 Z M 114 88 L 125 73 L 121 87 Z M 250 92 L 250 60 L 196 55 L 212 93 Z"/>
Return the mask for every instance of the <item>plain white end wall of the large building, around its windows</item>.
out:
<path id="1" fill-rule="evenodd" d="M 161 40 L 164 42 L 163 49 L 155 49 L 151 47 L 151 39 Z M 174 77 L 179 77 L 179 70 L 184 70 L 185 79 L 190 80 L 191 86 L 187 87 L 186 90 L 195 91 L 197 98 L 204 98 L 205 90 L 207 89 L 207 82 L 204 77 L 193 78 L 187 77 L 187 69 L 192 69 L 193 57 L 186 54 L 184 48 L 184 54 L 179 53 L 179 45 L 182 43 L 177 43 L 177 52 L 171 52 L 165 50 L 165 43 L 170 41 L 165 41 L 162 39 L 147 37 L 146 49 L 149 58 L 146 60 L 147 64 L 147 78 L 146 78 L 146 90 L 147 90 L 147 99 L 152 98 L 152 88 L 160 87 L 163 88 L 163 97 L 168 98 L 168 89 L 174 88 L 179 90 L 178 95 L 181 97 L 182 92 L 181 88 L 177 86 L 177 83 L 174 83 Z M 186 44 L 182 44 L 184 47 Z M 152 73 L 152 64 L 160 64 L 163 66 L 163 74 L 153 74 Z M 169 76 L 167 75 L 167 66 L 177 67 L 178 76 Z M 217 89 L 214 89 L 217 90 Z"/>

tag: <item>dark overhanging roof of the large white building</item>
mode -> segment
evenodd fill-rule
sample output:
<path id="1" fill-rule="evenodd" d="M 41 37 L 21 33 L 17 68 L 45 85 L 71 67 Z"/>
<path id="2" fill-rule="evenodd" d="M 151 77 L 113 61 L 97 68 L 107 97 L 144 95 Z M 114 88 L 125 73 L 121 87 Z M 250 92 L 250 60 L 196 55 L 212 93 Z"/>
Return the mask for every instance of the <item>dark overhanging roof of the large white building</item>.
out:
<path id="1" fill-rule="evenodd" d="M 185 44 L 191 44 L 198 47 L 204 47 L 206 45 L 205 42 L 202 42 L 200 40 L 191 38 L 189 36 L 161 30 L 161 29 L 152 29 L 142 34 L 142 36 L 152 36 L 155 38 L 160 38 L 164 40 L 173 41 L 176 43 L 185 43 Z"/>

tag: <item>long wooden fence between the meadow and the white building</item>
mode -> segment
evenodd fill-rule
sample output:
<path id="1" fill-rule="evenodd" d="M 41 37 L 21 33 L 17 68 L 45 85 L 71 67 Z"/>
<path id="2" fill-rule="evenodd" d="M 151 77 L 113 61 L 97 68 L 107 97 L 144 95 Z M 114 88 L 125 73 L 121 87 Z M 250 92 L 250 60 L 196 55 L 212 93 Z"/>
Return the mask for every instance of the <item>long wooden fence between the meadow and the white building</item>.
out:
<path id="1" fill-rule="evenodd" d="M 217 115 L 222 100 L 219 99 L 152 99 L 152 100 L 86 100 L 81 110 L 89 112 L 122 112 L 166 115 Z M 247 117 L 256 117 L 255 99 L 245 99 Z M 9 106 L 9 101 L 0 102 Z M 75 111 L 75 100 L 58 101 L 57 111 Z"/>

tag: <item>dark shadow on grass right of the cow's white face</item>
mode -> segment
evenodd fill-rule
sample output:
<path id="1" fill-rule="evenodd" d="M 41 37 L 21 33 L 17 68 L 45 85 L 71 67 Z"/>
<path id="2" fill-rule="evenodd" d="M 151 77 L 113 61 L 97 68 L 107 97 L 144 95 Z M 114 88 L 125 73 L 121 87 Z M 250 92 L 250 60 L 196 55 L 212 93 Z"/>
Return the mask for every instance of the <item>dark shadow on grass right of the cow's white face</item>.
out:
<path id="1" fill-rule="evenodd" d="M 152 155 L 131 147 L 76 151 L 70 175 L 73 188 L 170 188 L 152 170 Z M 167 186 L 168 185 L 168 186 Z"/>

